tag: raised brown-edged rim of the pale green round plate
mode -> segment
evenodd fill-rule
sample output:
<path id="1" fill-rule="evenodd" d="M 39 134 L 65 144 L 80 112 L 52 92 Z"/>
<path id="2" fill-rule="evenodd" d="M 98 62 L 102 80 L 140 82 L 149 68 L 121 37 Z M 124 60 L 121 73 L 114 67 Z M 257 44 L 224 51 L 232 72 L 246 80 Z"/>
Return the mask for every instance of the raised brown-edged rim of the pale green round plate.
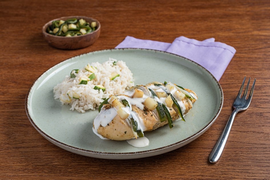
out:
<path id="1" fill-rule="evenodd" d="M 159 147 L 159 148 L 155 148 L 155 149 L 150 149 L 150 150 L 146 150 L 146 151 L 134 151 L 134 152 L 121 152 L 121 153 L 115 153 L 115 152 L 100 152 L 100 151 L 92 151 L 92 150 L 87 150 L 87 149 L 81 149 L 78 147 L 74 147 L 71 145 L 67 145 L 61 141 L 58 141 L 57 139 L 47 135 L 45 132 L 43 132 L 38 126 L 37 124 L 33 121 L 33 119 L 31 118 L 29 109 L 28 109 L 28 104 L 29 104 L 29 96 L 31 94 L 31 91 L 34 87 L 34 85 L 37 83 L 37 81 L 41 78 L 41 76 L 43 76 L 46 72 L 50 71 L 52 68 L 60 65 L 61 63 L 64 63 L 65 61 L 69 60 L 69 59 L 74 59 L 83 55 L 88 55 L 88 54 L 94 54 L 94 53 L 100 53 L 102 51 L 119 51 L 119 50 L 143 50 L 143 51 L 154 51 L 154 52 L 161 52 L 161 53 L 165 53 L 168 55 L 174 55 L 177 57 L 181 57 L 183 59 L 185 59 L 186 61 L 189 61 L 190 63 L 195 63 L 197 66 L 199 66 L 200 68 L 202 68 L 204 71 L 206 71 L 215 81 L 215 83 L 217 84 L 217 87 L 219 89 L 220 92 L 220 104 L 219 104 L 219 108 L 217 109 L 217 113 L 214 115 L 214 117 L 211 119 L 211 121 L 209 121 L 209 123 L 207 125 L 205 125 L 202 129 L 200 129 L 200 131 L 196 132 L 195 134 L 187 137 L 186 139 L 183 139 L 181 141 L 178 141 L 176 143 L 170 144 L 170 145 L 166 145 L 163 147 Z M 96 158 L 102 158 L 102 159 L 135 159 L 135 158 L 141 158 L 141 157 L 136 157 L 135 155 L 142 155 L 142 154 L 149 154 L 149 155 L 145 155 L 144 157 L 149 157 L 149 156 L 153 156 L 151 154 L 154 155 L 158 155 L 158 154 L 162 154 L 162 153 L 166 153 L 169 151 L 173 151 L 174 149 L 180 148 L 186 144 L 188 144 L 189 140 L 194 141 L 196 138 L 198 138 L 200 135 L 202 135 L 207 129 L 209 129 L 209 127 L 211 127 L 211 125 L 215 122 L 215 120 L 217 119 L 218 115 L 221 112 L 222 106 L 223 106 L 223 91 L 221 88 L 221 85 L 219 84 L 219 82 L 217 81 L 217 79 L 212 75 L 212 73 L 210 73 L 210 71 L 208 71 L 207 69 L 205 69 L 202 65 L 177 54 L 174 53 L 169 53 L 169 52 L 165 52 L 165 51 L 160 51 L 160 50 L 154 50 L 154 49 L 144 49 L 144 48 L 117 48 L 117 49 L 102 49 L 102 50 L 98 50 L 98 51 L 90 51 L 88 53 L 82 53 L 80 55 L 76 55 L 73 57 L 70 57 L 68 59 L 65 59 L 55 65 L 53 65 L 52 67 L 50 67 L 49 69 L 47 69 L 46 71 L 44 71 L 43 73 L 41 73 L 41 75 L 39 75 L 39 77 L 37 77 L 37 79 L 35 79 L 35 81 L 32 83 L 31 87 L 29 88 L 26 98 L 25 98 L 25 110 L 26 110 L 26 114 L 27 117 L 29 119 L 29 121 L 31 122 L 31 124 L 34 126 L 34 128 L 48 141 L 50 141 L 51 143 L 61 147 L 62 149 L 65 149 L 67 151 L 73 150 L 71 152 L 73 153 L 77 153 L 77 154 L 81 154 L 84 156 L 89 156 L 89 157 L 96 157 Z M 190 141 L 190 142 L 192 142 Z M 172 148 L 172 149 L 170 149 Z M 168 149 L 168 151 L 166 152 L 161 152 L 162 150 L 166 150 Z M 75 152 L 74 152 L 75 151 Z M 161 153 L 157 153 L 157 152 L 161 152 Z M 155 154 L 156 153 L 156 154 Z M 103 157 L 105 156 L 105 157 Z M 108 158 L 110 156 L 110 158 Z M 134 156 L 134 157 L 133 157 Z M 117 158 L 119 157 L 119 158 Z M 121 157 L 125 157 L 125 158 L 121 158 Z"/>

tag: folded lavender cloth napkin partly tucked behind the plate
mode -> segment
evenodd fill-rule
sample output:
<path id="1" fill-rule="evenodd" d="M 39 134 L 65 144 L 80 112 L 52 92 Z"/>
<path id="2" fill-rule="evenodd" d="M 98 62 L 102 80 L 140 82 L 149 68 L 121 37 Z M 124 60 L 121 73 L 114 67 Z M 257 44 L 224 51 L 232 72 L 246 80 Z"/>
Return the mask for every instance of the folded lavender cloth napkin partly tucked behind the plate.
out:
<path id="1" fill-rule="evenodd" d="M 173 43 L 127 36 L 115 48 L 144 48 L 174 53 L 202 65 L 213 74 L 217 81 L 220 80 L 236 52 L 233 47 L 225 43 L 215 42 L 215 38 L 198 41 L 184 36 L 177 37 Z"/>

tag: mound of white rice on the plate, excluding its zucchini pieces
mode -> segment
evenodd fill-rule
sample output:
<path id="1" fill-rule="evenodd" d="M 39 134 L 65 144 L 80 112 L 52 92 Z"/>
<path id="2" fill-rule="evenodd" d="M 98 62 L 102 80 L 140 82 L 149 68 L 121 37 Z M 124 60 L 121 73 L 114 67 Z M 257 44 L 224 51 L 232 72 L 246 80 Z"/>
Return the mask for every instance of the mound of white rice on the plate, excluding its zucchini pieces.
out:
<path id="1" fill-rule="evenodd" d="M 113 64 L 114 62 L 116 62 L 116 65 Z M 96 78 L 88 81 L 86 85 L 79 84 L 79 80 L 81 77 L 89 80 L 88 77 L 91 73 L 83 68 L 79 69 L 78 73 L 74 73 L 75 78 L 70 78 L 67 75 L 62 83 L 53 88 L 55 99 L 60 99 L 63 105 L 71 105 L 70 110 L 72 111 L 75 109 L 78 112 L 85 113 L 88 109 L 95 110 L 104 101 L 104 98 L 106 99 L 112 94 L 123 93 L 125 89 L 134 86 L 133 74 L 124 61 L 109 58 L 109 61 L 102 64 L 95 62 L 90 65 L 96 67 Z M 112 73 L 117 73 L 120 76 L 110 80 Z M 101 89 L 95 90 L 95 85 L 103 85 L 106 90 L 104 92 Z M 79 99 L 73 98 L 74 93 L 80 96 Z"/>

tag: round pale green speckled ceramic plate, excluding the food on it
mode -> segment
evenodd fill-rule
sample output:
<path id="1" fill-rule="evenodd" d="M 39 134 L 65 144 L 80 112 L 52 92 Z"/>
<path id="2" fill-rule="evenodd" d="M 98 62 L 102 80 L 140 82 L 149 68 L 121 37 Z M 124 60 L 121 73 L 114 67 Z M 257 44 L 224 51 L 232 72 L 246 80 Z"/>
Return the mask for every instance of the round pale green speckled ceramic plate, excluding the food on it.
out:
<path id="1" fill-rule="evenodd" d="M 150 144 L 136 148 L 126 141 L 102 140 L 92 132 L 98 111 L 70 111 L 69 105 L 55 100 L 53 87 L 72 69 L 87 63 L 122 60 L 133 73 L 135 84 L 171 81 L 194 90 L 199 99 L 186 122 L 174 122 L 146 132 Z M 73 153 L 103 159 L 134 159 L 166 153 L 202 135 L 215 121 L 223 105 L 223 92 L 217 80 L 202 66 L 184 57 L 149 49 L 108 49 L 67 59 L 43 73 L 27 93 L 27 116 L 35 129 L 51 143 Z"/>

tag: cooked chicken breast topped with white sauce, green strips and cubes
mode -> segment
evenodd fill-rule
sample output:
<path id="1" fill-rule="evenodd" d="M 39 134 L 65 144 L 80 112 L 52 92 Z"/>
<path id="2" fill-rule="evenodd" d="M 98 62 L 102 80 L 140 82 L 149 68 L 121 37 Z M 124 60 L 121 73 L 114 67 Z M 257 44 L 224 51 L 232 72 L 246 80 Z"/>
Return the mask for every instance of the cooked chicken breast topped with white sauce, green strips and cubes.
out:
<path id="1" fill-rule="evenodd" d="M 99 137 L 128 140 L 143 137 L 172 121 L 182 119 L 198 99 L 196 93 L 178 85 L 152 82 L 132 87 L 124 94 L 110 96 L 100 105 L 93 131 Z"/>

